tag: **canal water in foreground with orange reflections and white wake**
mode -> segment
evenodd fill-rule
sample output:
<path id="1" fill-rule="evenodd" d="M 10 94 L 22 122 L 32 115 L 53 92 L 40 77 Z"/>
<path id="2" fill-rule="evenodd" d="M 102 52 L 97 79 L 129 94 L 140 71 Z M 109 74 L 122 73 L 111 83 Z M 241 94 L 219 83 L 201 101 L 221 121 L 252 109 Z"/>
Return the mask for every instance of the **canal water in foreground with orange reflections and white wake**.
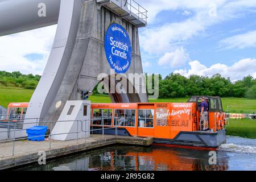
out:
<path id="1" fill-rule="evenodd" d="M 18 170 L 256 170 L 256 121 L 229 119 L 227 142 L 217 151 L 217 164 L 209 164 L 209 151 L 170 147 L 112 146 Z"/>

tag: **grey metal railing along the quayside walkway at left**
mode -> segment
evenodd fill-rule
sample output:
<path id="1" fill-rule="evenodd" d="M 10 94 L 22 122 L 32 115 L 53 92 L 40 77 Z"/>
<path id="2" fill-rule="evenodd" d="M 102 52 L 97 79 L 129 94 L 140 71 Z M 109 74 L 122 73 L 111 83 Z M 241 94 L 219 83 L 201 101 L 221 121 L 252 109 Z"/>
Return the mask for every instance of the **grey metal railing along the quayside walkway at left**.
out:
<path id="1" fill-rule="evenodd" d="M 104 119 L 104 118 L 103 118 Z M 52 137 L 55 136 L 55 135 L 64 135 L 64 134 L 76 134 L 76 142 L 79 143 L 79 139 L 82 139 L 84 138 L 85 140 L 83 140 L 84 142 L 86 142 L 86 139 L 88 137 L 86 137 L 86 133 L 90 132 L 90 133 L 93 133 L 93 131 L 98 131 L 98 130 L 102 130 L 102 138 L 104 138 L 105 136 L 105 130 L 109 130 L 109 129 L 115 129 L 115 135 L 117 136 L 118 135 L 118 132 L 117 132 L 117 129 L 118 129 L 118 126 L 114 126 L 114 127 L 105 127 L 104 126 L 104 122 L 103 122 L 103 119 L 102 119 L 102 128 L 101 129 L 92 129 L 91 127 L 89 127 L 89 129 L 86 129 L 86 123 L 91 123 L 93 121 L 93 119 L 86 119 L 86 120 L 72 120 L 72 121 L 36 121 L 36 122 L 26 122 L 24 123 L 24 125 L 28 125 L 28 126 L 48 126 L 48 131 L 46 133 L 46 135 L 40 135 L 40 136 L 36 136 L 36 137 L 29 137 L 29 139 L 33 139 L 33 138 L 38 138 L 38 137 L 45 137 L 48 141 L 48 144 L 49 144 L 49 149 L 52 148 Z M 106 119 L 106 118 L 105 118 Z M 112 118 L 111 118 L 112 119 Z M 76 131 L 73 131 L 73 132 L 68 132 L 68 133 L 54 133 L 52 134 L 52 130 L 53 130 L 53 126 L 56 124 L 56 123 L 59 123 L 59 122 L 76 122 L 77 123 L 77 130 Z M 28 137 L 16 137 L 16 133 L 17 132 L 26 132 L 27 129 L 18 129 L 18 124 L 17 123 L 14 123 L 14 122 L 7 122 L 5 123 L 5 125 L 7 126 L 7 128 L 9 128 L 10 130 L 6 130 L 6 131 L 2 131 L 0 130 L 0 136 L 1 134 L 7 134 L 8 135 L 8 138 L 7 139 L 4 139 L 4 140 L 0 140 L 0 148 L 1 148 L 1 144 L 5 144 L 5 143 L 9 143 L 9 142 L 12 142 L 12 152 L 10 153 L 9 156 L 14 156 L 15 154 L 18 154 L 18 152 L 15 151 L 15 144 L 16 142 L 20 142 L 20 141 L 23 141 L 23 140 L 26 140 L 28 139 Z M 10 135 L 11 133 L 11 135 Z M 85 137 L 79 137 L 79 134 L 80 133 L 84 133 L 85 135 L 82 135 L 82 136 L 85 136 Z"/>

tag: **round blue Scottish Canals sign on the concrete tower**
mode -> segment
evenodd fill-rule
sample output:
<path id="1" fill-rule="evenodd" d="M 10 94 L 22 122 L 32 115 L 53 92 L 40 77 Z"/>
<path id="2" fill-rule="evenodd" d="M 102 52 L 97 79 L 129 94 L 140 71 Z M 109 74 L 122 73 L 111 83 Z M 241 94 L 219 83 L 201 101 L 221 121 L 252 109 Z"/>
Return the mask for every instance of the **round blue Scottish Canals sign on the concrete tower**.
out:
<path id="1" fill-rule="evenodd" d="M 117 73 L 126 73 L 131 65 L 132 49 L 125 28 L 117 23 L 109 26 L 105 36 L 105 52 L 109 65 Z"/>

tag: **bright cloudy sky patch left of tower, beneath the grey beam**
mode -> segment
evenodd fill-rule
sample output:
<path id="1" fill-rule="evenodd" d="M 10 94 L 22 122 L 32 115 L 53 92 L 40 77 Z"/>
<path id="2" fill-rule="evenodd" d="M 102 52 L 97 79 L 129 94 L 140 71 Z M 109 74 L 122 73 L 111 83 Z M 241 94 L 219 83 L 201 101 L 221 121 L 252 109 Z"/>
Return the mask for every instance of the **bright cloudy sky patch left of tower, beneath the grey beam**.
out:
<path id="1" fill-rule="evenodd" d="M 0 70 L 42 75 L 51 51 L 56 25 L 0 37 Z M 30 60 L 27 55 L 42 55 Z"/>

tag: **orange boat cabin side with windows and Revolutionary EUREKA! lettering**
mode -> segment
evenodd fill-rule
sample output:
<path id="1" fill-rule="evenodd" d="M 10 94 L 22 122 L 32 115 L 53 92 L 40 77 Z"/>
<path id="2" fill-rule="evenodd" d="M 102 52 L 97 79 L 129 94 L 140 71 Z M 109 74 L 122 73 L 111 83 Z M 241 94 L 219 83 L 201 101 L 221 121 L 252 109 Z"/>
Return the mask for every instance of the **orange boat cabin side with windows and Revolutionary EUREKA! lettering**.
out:
<path id="1" fill-rule="evenodd" d="M 117 126 L 123 135 L 138 137 L 172 139 L 198 130 L 195 103 L 92 104 L 91 118 L 93 129 Z"/>

